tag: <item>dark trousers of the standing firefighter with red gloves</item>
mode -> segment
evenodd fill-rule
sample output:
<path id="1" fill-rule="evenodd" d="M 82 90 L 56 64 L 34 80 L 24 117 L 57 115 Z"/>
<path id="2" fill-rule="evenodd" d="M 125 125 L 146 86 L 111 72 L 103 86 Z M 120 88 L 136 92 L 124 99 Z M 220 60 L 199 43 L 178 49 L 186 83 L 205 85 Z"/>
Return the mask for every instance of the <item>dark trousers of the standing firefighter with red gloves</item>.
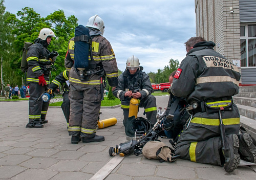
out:
<path id="1" fill-rule="evenodd" d="M 29 123 L 38 124 L 46 119 L 46 114 L 50 101 L 44 102 L 41 95 L 47 91 L 47 86 L 38 83 L 29 83 Z"/>

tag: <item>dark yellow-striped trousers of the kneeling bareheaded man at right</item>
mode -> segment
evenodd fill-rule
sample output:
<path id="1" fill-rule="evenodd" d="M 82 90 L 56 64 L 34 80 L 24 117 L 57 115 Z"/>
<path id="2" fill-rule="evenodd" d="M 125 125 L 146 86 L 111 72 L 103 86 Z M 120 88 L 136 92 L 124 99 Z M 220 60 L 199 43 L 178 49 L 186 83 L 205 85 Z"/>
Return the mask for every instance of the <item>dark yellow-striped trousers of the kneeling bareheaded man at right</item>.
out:
<path id="1" fill-rule="evenodd" d="M 237 106 L 233 104 L 233 110 L 221 114 L 226 134 L 238 134 L 240 116 Z M 184 160 L 223 166 L 225 160 L 222 157 L 220 133 L 218 113 L 197 113 L 188 128 L 184 128 L 180 134 L 175 154 L 181 155 Z"/>

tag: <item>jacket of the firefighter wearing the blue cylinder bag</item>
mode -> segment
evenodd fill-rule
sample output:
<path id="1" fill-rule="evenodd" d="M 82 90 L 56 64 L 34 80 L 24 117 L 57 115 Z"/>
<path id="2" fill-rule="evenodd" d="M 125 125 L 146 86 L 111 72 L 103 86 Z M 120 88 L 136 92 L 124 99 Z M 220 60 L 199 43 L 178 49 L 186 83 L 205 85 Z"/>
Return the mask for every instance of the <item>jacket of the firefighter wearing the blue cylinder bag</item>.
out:
<path id="1" fill-rule="evenodd" d="M 92 53 L 93 59 L 96 62 L 97 66 L 100 66 L 104 69 L 105 75 L 108 78 L 110 86 L 117 86 L 117 62 L 110 42 L 101 35 L 95 36 L 92 39 Z M 89 67 L 92 63 L 93 62 L 91 60 L 91 57 L 89 56 Z M 74 67 L 71 68 L 69 81 L 70 84 L 79 86 L 100 87 L 100 76 L 98 74 L 89 75 L 89 81 L 81 81 Z"/>

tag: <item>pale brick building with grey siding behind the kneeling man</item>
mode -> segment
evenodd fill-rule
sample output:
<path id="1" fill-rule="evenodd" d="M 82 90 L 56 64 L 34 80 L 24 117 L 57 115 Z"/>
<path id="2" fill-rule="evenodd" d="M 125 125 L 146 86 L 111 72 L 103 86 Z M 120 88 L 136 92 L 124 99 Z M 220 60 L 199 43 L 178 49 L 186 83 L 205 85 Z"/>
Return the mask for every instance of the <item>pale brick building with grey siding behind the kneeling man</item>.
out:
<path id="1" fill-rule="evenodd" d="M 256 84 L 256 1 L 195 0 L 196 34 L 240 68 L 242 85 Z"/>

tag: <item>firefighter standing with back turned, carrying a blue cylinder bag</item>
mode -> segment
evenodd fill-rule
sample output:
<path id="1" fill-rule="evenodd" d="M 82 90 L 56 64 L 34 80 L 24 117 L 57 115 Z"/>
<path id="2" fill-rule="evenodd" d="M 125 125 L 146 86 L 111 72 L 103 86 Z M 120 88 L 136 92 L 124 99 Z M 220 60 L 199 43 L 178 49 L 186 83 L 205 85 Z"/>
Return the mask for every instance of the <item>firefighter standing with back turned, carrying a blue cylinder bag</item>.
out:
<path id="1" fill-rule="evenodd" d="M 80 78 L 75 67 L 70 71 L 69 135 L 72 136 L 72 144 L 77 144 L 80 136 L 83 143 L 104 141 L 103 136 L 96 135 L 101 104 L 101 78 L 106 76 L 111 86 L 118 84 L 115 54 L 110 42 L 102 36 L 103 20 L 98 15 L 92 16 L 86 27 L 92 38 L 93 59 L 89 56 L 89 73 L 84 76 L 85 79 Z"/>

